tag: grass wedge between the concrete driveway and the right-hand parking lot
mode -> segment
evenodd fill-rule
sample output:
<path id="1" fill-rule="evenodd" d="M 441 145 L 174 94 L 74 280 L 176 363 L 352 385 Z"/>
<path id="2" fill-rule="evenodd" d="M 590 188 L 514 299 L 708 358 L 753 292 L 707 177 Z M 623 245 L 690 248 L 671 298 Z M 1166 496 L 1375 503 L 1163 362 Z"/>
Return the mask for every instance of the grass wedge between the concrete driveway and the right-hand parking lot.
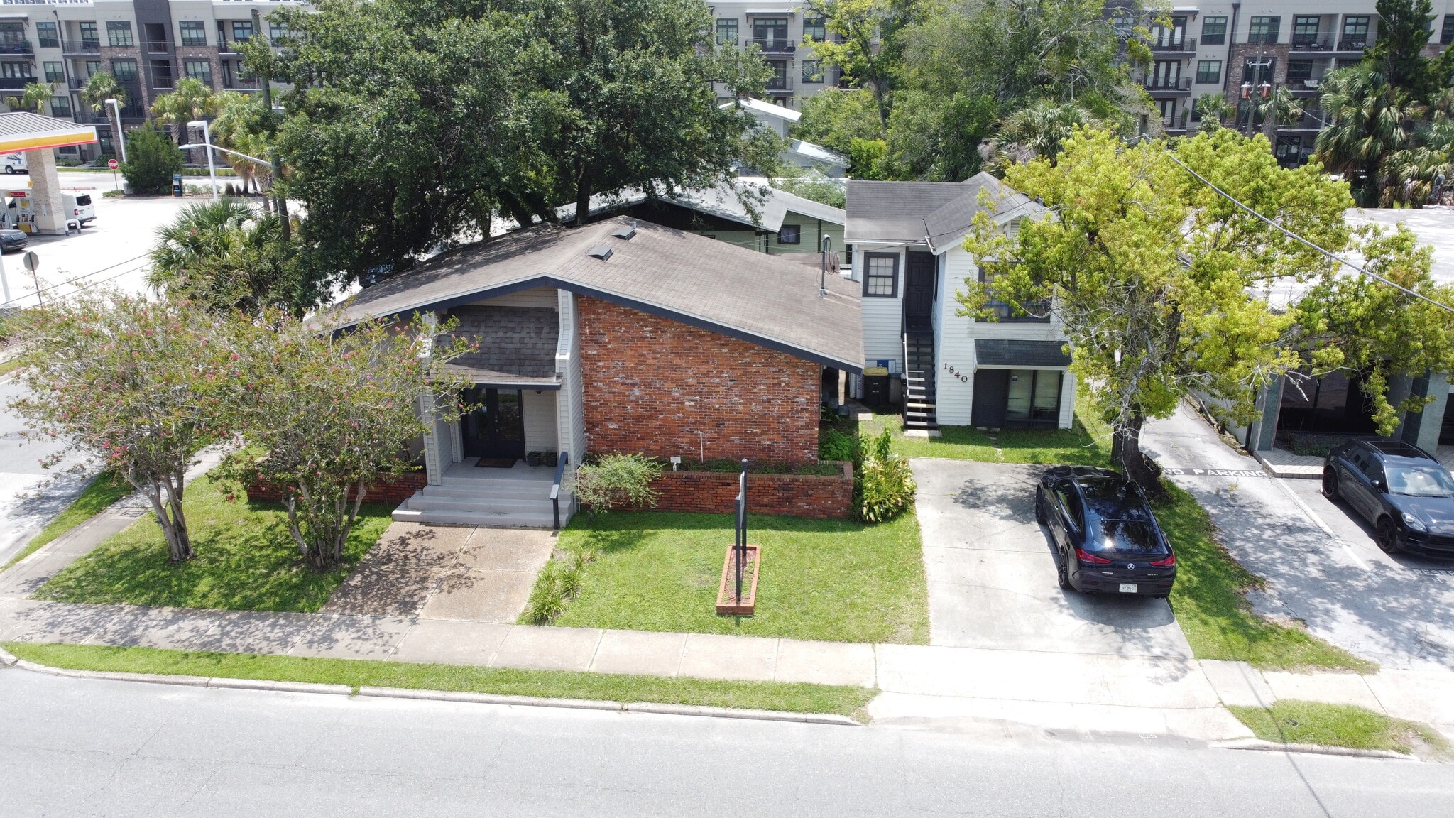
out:
<path id="1" fill-rule="evenodd" d="M 1234 659 L 1262 670 L 1378 670 L 1301 629 L 1252 613 L 1243 594 L 1262 581 L 1216 541 L 1211 518 L 1195 498 L 1170 483 L 1166 488 L 1170 499 L 1156 504 L 1156 520 L 1176 550 L 1170 603 L 1198 659 Z"/>

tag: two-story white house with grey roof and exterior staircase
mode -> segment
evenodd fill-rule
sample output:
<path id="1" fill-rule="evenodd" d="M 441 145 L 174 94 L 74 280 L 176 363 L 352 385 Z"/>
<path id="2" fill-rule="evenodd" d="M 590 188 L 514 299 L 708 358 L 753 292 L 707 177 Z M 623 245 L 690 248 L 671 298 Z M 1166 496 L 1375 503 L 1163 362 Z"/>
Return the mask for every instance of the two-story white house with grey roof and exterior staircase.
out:
<path id="1" fill-rule="evenodd" d="M 981 191 L 1011 234 L 1045 213 L 989 173 L 958 183 L 848 182 L 846 275 L 861 285 L 865 378 L 883 368 L 893 386 L 881 394 L 855 378 L 852 390 L 901 400 L 906 434 L 933 435 L 941 424 L 1069 429 L 1075 419 L 1076 383 L 1054 319 L 1016 317 L 1006 304 L 993 304 L 999 322 L 955 314 L 954 294 L 981 277 L 963 246 Z"/>

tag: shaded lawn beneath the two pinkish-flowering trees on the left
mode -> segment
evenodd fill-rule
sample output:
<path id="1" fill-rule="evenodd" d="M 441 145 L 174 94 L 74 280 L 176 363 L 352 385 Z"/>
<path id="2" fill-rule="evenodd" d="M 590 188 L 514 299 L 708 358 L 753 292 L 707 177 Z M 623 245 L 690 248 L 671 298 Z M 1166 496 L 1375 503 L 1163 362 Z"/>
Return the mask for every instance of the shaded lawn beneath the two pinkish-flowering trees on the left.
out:
<path id="1" fill-rule="evenodd" d="M 368 504 L 349 537 L 343 565 L 310 569 L 288 536 L 279 504 L 227 501 L 209 477 L 186 489 L 188 527 L 196 556 L 167 559 L 166 540 L 148 515 L 111 537 L 47 582 L 36 597 L 60 603 L 128 603 L 259 611 L 316 611 L 378 541 L 388 505 Z"/>

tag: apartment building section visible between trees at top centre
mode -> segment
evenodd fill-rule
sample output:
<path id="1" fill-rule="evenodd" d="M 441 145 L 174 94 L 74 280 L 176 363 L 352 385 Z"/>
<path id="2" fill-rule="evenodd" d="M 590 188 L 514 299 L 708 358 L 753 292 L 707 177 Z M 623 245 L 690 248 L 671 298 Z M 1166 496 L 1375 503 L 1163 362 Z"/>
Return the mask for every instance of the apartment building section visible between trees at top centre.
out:
<path id="1" fill-rule="evenodd" d="M 772 68 L 763 99 L 797 109 L 814 93 L 838 84 L 838 68 L 823 65 L 804 39 L 827 39 L 826 20 L 800 3 L 712 3 L 714 32 L 720 45 L 756 44 Z M 718 86 L 724 100 L 727 92 Z"/>

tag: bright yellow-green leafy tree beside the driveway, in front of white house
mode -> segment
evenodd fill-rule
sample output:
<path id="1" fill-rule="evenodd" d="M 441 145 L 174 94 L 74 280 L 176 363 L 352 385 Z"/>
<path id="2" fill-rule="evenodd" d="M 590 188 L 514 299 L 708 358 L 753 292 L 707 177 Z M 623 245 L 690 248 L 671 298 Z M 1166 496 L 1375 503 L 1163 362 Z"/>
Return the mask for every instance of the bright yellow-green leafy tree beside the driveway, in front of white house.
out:
<path id="1" fill-rule="evenodd" d="M 1285 344 L 1294 316 L 1271 309 L 1258 288 L 1329 262 L 1197 182 L 1163 141 L 1127 146 L 1077 130 L 1061 147 L 1054 164 L 1041 157 L 1006 169 L 1005 180 L 1050 213 L 1027 220 L 1016 239 L 977 217 L 964 246 L 989 284 L 965 282 L 960 314 L 995 320 L 993 297 L 1016 313 L 1054 316 L 1072 371 L 1111 426 L 1112 461 L 1160 491 L 1140 448 L 1146 421 L 1170 415 L 1191 390 L 1250 419 L 1255 389 L 1300 362 Z M 1346 185 L 1316 164 L 1280 167 L 1262 135 L 1202 132 L 1175 151 L 1285 229 L 1332 250 L 1348 243 Z"/>

